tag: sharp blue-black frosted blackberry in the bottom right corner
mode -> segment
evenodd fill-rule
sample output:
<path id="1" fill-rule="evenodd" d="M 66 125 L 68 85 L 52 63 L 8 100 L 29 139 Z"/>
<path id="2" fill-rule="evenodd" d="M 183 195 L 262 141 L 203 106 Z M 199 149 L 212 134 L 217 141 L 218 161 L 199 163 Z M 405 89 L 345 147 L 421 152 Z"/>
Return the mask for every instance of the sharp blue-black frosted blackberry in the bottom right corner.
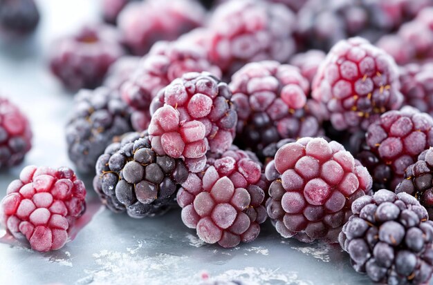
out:
<path id="1" fill-rule="evenodd" d="M 379 190 L 352 204 L 339 241 L 358 273 L 379 284 L 427 284 L 433 271 L 433 223 L 406 193 Z"/>

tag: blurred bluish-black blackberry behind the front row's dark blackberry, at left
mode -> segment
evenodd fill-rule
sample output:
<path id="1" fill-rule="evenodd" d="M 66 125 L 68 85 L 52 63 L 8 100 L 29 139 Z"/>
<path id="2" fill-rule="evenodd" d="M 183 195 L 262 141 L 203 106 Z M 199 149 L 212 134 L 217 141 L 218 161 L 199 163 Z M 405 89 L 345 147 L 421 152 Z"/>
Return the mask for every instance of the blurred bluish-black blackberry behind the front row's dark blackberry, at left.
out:
<path id="1" fill-rule="evenodd" d="M 66 125 L 69 159 L 80 173 L 93 173 L 111 140 L 132 130 L 131 110 L 116 90 L 81 90 Z"/>

